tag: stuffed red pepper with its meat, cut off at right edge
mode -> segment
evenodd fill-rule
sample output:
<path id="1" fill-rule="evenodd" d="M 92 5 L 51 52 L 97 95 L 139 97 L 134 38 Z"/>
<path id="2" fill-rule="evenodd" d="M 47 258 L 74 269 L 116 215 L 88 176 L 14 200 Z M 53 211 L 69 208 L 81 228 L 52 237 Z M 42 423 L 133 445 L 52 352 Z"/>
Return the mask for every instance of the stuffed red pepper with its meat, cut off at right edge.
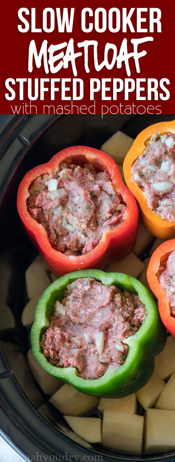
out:
<path id="1" fill-rule="evenodd" d="M 175 239 L 164 242 L 152 254 L 147 279 L 158 299 L 163 324 L 175 337 Z"/>

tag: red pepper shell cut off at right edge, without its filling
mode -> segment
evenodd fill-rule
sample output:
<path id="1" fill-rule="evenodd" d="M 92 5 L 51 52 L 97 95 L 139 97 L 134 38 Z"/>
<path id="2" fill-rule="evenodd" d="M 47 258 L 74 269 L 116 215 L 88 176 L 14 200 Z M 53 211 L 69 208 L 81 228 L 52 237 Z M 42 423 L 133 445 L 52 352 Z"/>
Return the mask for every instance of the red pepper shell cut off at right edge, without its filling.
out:
<path id="1" fill-rule="evenodd" d="M 170 334 L 175 337 L 175 317 L 172 315 L 169 308 L 169 298 L 167 291 L 161 286 L 157 279 L 157 272 L 163 261 L 167 261 L 170 253 L 175 250 L 175 239 L 163 242 L 152 254 L 150 263 L 147 269 L 147 280 L 152 292 L 158 299 L 159 313 L 164 326 L 169 330 Z"/>

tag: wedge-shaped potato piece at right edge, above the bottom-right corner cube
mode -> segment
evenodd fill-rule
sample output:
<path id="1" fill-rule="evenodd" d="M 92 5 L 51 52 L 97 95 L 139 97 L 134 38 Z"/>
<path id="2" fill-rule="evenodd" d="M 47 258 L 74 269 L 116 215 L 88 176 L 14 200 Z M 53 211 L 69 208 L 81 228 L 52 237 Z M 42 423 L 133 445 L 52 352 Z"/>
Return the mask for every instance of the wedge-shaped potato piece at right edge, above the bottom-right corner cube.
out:
<path id="1" fill-rule="evenodd" d="M 169 409 L 175 411 L 175 372 L 166 383 L 155 405 L 157 409 Z"/>

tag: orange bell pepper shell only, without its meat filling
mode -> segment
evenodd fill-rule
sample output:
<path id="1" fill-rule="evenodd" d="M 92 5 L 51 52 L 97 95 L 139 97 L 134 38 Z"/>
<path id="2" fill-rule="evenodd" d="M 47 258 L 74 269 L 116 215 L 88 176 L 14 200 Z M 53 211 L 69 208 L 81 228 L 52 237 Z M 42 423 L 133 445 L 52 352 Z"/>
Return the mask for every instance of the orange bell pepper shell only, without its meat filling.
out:
<path id="1" fill-rule="evenodd" d="M 145 150 L 145 141 L 150 140 L 151 135 L 154 133 L 164 134 L 173 133 L 175 134 L 175 120 L 172 122 L 159 122 L 150 127 L 145 128 L 133 142 L 133 146 L 128 151 L 123 164 L 123 172 L 125 181 L 128 188 L 132 191 L 134 197 L 139 202 L 142 219 L 145 227 L 156 237 L 167 238 L 172 237 L 175 234 L 175 222 L 169 220 L 163 220 L 159 215 L 152 212 L 151 208 L 147 205 L 145 193 L 141 188 L 133 181 L 131 181 L 131 167 L 139 156 L 141 156 Z"/>

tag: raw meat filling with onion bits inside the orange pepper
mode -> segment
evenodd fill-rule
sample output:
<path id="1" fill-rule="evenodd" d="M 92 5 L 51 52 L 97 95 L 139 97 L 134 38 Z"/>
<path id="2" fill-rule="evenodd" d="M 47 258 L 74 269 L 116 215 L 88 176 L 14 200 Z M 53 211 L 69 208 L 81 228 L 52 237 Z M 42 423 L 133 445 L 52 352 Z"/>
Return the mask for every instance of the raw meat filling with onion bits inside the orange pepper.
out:
<path id="1" fill-rule="evenodd" d="M 152 212 L 175 221 L 175 135 L 154 134 L 145 145 L 132 166 L 132 181 L 146 193 Z"/>

